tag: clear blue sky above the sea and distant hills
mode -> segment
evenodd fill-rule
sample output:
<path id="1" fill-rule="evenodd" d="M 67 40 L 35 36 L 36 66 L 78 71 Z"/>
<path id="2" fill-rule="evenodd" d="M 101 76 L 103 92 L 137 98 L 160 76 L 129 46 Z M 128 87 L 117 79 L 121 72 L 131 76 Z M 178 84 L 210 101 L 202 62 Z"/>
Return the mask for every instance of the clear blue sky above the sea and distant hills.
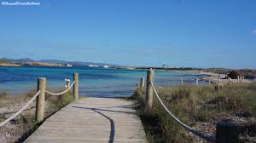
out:
<path id="1" fill-rule="evenodd" d="M 256 68 L 255 0 L 2 2 L 0 58 Z"/>

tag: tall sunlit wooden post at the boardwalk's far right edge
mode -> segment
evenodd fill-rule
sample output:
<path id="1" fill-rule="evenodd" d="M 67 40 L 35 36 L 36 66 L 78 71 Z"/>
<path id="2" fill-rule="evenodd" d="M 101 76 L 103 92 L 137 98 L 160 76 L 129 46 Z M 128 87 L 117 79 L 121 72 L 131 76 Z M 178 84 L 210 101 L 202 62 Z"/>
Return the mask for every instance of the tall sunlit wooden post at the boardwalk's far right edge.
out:
<path id="1" fill-rule="evenodd" d="M 146 101 L 149 108 L 152 108 L 154 92 L 151 82 L 154 82 L 154 70 L 152 68 L 150 68 L 150 70 L 147 72 Z"/>

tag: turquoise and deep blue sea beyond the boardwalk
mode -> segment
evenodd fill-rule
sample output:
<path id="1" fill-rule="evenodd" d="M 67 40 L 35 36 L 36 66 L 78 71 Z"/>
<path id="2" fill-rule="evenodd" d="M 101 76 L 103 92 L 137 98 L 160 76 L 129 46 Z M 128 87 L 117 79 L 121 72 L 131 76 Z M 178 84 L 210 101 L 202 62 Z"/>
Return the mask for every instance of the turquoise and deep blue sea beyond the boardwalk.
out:
<path id="1" fill-rule="evenodd" d="M 38 77 L 47 78 L 48 89 L 65 86 L 65 78 L 73 80 L 73 72 L 79 73 L 79 94 L 94 97 L 113 97 L 131 95 L 141 77 L 146 79 L 146 71 L 102 69 L 88 67 L 0 67 L 0 89 L 8 94 L 26 94 L 29 89 L 37 88 Z M 155 71 L 155 85 L 195 84 L 190 72 Z M 200 81 L 200 84 L 205 82 Z"/>

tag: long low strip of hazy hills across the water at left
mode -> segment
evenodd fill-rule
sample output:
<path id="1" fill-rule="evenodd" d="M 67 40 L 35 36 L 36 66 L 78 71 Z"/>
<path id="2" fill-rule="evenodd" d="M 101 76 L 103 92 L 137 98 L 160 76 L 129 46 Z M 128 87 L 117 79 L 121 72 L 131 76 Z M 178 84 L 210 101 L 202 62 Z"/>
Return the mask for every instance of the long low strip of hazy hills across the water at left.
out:
<path id="1" fill-rule="evenodd" d="M 67 61 L 67 60 L 32 60 L 30 58 L 20 58 L 20 59 L 11 59 L 11 58 L 2 58 L 0 60 L 5 60 L 13 63 L 27 63 L 27 62 L 37 62 L 37 63 L 55 63 L 55 64 L 69 64 L 73 66 L 90 66 L 90 65 L 96 65 L 99 67 L 103 66 L 110 66 L 112 68 L 122 68 L 123 66 L 119 65 L 113 65 L 113 64 L 108 64 L 108 63 L 95 63 L 95 62 L 83 62 L 83 61 Z"/>

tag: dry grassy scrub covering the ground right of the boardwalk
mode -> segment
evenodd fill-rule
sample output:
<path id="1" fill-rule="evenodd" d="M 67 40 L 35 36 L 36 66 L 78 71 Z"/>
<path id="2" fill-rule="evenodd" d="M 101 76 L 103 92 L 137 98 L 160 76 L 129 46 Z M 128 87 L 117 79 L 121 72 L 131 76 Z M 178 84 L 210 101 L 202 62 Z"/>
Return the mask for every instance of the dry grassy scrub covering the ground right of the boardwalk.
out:
<path id="1" fill-rule="evenodd" d="M 214 86 L 192 85 L 159 87 L 157 91 L 175 116 L 202 133 L 213 135 L 218 121 L 229 121 L 241 125 L 240 142 L 256 141 L 256 83 L 230 84 L 218 91 Z M 167 117 L 155 98 L 153 108 L 148 109 L 142 89 L 132 98 L 138 101 L 149 142 L 201 141 Z"/>

